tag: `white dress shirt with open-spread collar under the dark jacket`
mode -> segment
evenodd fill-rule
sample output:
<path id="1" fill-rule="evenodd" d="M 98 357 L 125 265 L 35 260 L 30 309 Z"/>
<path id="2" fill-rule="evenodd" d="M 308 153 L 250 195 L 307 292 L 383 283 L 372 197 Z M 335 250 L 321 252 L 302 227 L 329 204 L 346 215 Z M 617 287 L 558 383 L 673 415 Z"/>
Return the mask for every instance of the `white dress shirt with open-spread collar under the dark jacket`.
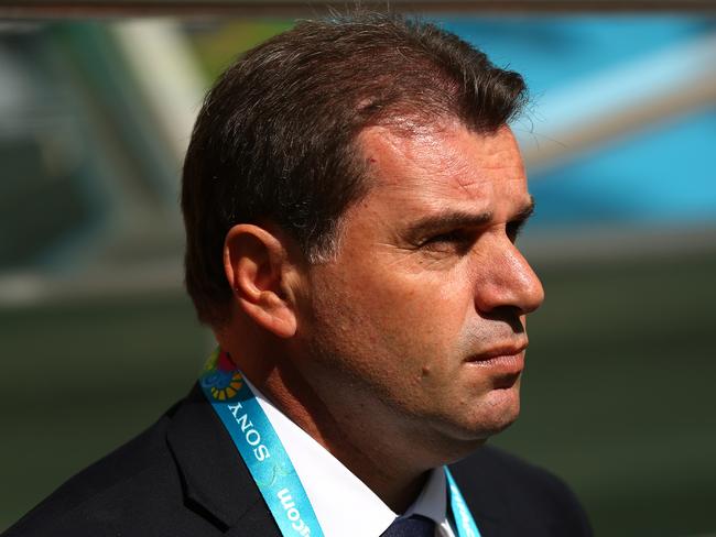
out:
<path id="1" fill-rule="evenodd" d="M 380 536 L 399 516 L 338 459 L 279 410 L 248 380 L 247 384 L 283 443 L 326 537 Z M 455 537 L 447 518 L 446 479 L 432 471 L 417 500 L 403 516 L 435 522 L 435 537 Z"/>

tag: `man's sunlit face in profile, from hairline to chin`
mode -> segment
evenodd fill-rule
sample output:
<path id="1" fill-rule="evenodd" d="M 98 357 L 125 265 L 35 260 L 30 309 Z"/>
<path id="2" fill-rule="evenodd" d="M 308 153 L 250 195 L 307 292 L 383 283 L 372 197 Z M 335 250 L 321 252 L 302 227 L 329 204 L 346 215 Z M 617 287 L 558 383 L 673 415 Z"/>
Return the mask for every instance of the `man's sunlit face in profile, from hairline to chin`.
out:
<path id="1" fill-rule="evenodd" d="M 373 186 L 308 275 L 314 388 L 433 440 L 482 440 L 518 416 L 543 299 L 514 245 L 532 207 L 516 140 L 443 125 L 358 142 Z"/>

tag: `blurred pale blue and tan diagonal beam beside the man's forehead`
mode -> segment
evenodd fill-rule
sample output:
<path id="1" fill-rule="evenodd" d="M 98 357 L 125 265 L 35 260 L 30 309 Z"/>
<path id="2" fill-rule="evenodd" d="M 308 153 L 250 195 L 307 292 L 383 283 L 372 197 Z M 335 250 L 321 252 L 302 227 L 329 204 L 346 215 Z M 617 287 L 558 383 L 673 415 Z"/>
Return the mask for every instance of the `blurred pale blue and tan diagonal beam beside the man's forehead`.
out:
<path id="1" fill-rule="evenodd" d="M 675 116 L 716 105 L 716 34 L 583 79 L 538 102 L 520 132 L 528 167 L 544 168 Z"/>

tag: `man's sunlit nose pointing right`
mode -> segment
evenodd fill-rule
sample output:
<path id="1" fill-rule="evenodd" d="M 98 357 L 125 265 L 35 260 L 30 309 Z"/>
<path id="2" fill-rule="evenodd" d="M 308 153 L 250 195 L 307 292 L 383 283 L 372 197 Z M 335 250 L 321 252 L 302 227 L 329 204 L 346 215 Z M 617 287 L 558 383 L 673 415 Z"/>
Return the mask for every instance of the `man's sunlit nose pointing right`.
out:
<path id="1" fill-rule="evenodd" d="M 514 308 L 520 315 L 529 314 L 544 300 L 542 282 L 522 253 L 509 240 L 499 241 L 477 288 L 477 307 L 489 313 L 496 308 Z"/>

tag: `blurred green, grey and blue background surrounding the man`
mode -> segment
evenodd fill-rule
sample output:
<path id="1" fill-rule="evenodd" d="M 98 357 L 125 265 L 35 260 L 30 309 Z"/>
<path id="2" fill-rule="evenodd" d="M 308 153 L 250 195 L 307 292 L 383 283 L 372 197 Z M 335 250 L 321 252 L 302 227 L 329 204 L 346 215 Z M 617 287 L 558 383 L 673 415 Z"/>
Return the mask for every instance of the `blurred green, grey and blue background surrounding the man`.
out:
<path id="1" fill-rule="evenodd" d="M 182 288 L 194 117 L 238 53 L 321 13 L 48 3 L 0 21 L 0 530 L 189 390 L 211 348 Z M 493 443 L 597 535 L 716 535 L 716 11 L 432 6 L 532 96 L 521 245 L 547 298 Z"/>

